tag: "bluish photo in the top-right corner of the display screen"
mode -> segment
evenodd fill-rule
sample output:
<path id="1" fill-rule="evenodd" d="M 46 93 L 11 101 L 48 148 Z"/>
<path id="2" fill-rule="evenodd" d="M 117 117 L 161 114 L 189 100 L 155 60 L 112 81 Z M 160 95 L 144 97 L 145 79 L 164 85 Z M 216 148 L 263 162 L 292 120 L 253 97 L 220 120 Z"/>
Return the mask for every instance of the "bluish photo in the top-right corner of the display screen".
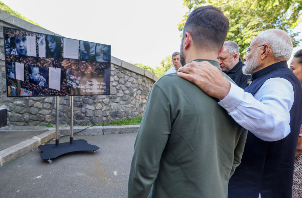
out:
<path id="1" fill-rule="evenodd" d="M 80 60 L 82 61 L 110 61 L 110 45 L 80 41 Z"/>

